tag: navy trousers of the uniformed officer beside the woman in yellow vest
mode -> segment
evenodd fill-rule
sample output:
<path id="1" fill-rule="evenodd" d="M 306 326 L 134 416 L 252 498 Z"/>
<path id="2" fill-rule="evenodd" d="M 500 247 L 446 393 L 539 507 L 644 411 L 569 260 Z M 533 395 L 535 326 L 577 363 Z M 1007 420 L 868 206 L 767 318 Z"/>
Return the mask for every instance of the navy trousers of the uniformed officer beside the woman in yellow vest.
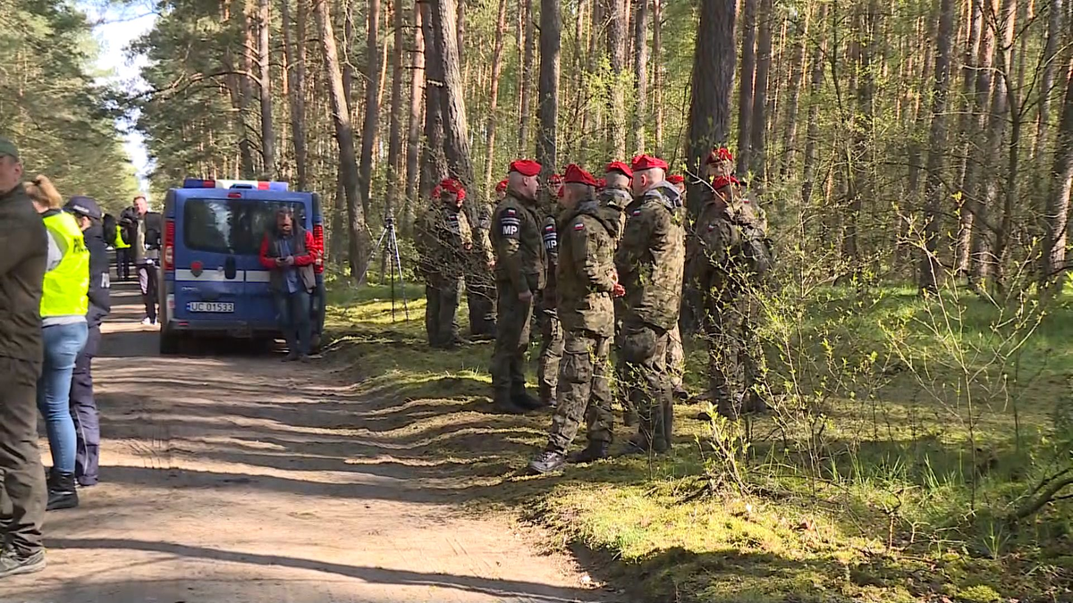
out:
<path id="1" fill-rule="evenodd" d="M 86 345 L 74 362 L 71 377 L 71 417 L 77 447 L 74 476 L 83 486 L 95 485 L 100 479 L 98 466 L 101 450 L 101 420 L 93 398 L 93 356 L 101 345 L 101 325 L 89 327 Z"/>

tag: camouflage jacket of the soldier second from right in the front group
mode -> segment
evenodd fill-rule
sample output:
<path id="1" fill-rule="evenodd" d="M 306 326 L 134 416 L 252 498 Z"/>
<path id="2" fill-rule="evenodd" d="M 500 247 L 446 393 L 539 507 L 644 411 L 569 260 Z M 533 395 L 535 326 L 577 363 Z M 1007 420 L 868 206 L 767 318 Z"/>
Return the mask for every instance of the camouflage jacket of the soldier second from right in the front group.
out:
<path id="1" fill-rule="evenodd" d="M 626 288 L 627 322 L 664 329 L 678 322 L 686 259 L 678 190 L 663 182 L 626 209 L 615 267 Z"/>

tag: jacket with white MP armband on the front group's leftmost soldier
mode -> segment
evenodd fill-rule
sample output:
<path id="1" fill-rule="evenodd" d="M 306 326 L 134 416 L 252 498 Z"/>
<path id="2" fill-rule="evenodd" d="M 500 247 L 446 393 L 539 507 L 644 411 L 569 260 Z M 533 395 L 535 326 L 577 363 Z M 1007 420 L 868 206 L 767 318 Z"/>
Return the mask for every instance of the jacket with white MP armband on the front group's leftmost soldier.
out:
<path id="1" fill-rule="evenodd" d="M 490 234 L 497 283 L 509 283 L 515 292 L 544 289 L 547 259 L 541 224 L 535 205 L 513 194 L 496 206 Z"/>

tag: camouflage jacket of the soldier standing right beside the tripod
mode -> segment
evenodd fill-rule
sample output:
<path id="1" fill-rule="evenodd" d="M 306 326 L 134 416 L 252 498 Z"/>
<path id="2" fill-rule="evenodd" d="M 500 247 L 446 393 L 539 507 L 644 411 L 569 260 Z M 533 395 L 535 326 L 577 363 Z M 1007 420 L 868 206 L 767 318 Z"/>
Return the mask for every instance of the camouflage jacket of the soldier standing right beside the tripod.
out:
<path id="1" fill-rule="evenodd" d="M 433 203 L 414 224 L 414 242 L 426 275 L 446 278 L 465 273 L 467 255 L 473 247 L 473 230 L 465 211 Z"/>

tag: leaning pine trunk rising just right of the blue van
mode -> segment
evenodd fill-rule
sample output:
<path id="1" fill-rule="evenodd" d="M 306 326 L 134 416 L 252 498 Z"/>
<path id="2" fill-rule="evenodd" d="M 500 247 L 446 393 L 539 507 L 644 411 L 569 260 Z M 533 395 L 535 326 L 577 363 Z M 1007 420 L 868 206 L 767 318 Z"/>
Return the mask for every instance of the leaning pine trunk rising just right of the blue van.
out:
<path id="1" fill-rule="evenodd" d="M 313 14 L 317 17 L 317 28 L 320 30 L 321 46 L 324 50 L 324 69 L 332 98 L 332 117 L 336 127 L 336 142 L 339 145 L 339 175 L 347 197 L 350 274 L 351 278 L 356 279 L 368 262 L 369 240 L 365 227 L 365 211 L 357 193 L 354 128 L 350 119 L 349 99 L 342 86 L 342 68 L 339 64 L 327 0 L 314 0 Z"/>

